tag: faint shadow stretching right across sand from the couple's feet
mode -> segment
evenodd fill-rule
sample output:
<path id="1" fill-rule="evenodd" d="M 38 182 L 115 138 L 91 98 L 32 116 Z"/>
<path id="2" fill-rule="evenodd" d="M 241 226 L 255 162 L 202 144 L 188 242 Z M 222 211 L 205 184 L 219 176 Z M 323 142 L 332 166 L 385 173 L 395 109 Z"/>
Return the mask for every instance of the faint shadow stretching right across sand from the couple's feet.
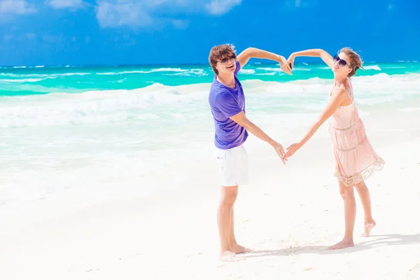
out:
<path id="1" fill-rule="evenodd" d="M 420 234 L 416 235 L 371 235 L 366 241 L 354 244 L 354 247 L 341 250 L 327 250 L 328 246 L 295 246 L 282 248 L 279 250 L 261 250 L 246 254 L 246 258 L 258 258 L 276 255 L 295 255 L 303 253 L 317 253 L 321 255 L 354 253 L 358 251 L 370 250 L 379 246 L 395 246 L 420 244 Z"/>

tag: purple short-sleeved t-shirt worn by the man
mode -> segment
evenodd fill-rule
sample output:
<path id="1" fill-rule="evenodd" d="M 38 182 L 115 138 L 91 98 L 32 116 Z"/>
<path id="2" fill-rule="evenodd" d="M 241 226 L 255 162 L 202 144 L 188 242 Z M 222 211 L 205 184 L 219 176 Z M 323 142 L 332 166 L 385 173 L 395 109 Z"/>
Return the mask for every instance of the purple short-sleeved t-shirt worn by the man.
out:
<path id="1" fill-rule="evenodd" d="M 230 119 L 231 116 L 235 116 L 240 111 L 245 113 L 244 90 L 237 77 L 240 69 L 241 64 L 236 62 L 235 88 L 220 83 L 216 79 L 216 75 L 210 87 L 209 104 L 216 129 L 214 144 L 217 148 L 224 150 L 240 146 L 248 137 L 248 132 L 244 127 Z"/>

